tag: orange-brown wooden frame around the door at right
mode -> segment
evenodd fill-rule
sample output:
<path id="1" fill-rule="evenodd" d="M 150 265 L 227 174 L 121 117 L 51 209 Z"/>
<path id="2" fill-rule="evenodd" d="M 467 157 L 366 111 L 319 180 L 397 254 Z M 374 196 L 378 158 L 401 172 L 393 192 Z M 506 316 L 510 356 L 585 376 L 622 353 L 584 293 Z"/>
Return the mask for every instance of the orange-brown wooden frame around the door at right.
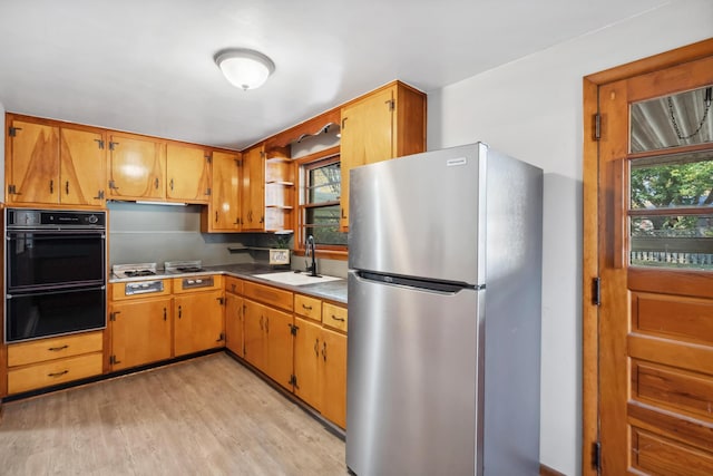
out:
<path id="1" fill-rule="evenodd" d="M 584 77 L 584 148 L 583 148 L 583 398 L 582 398 L 582 474 L 597 475 L 596 451 L 598 441 L 598 375 L 599 375 L 599 310 L 594 302 L 595 279 L 598 272 L 598 142 L 595 137 L 599 86 L 628 79 L 634 76 L 670 68 L 713 55 L 713 38 L 676 48 L 660 55 L 617 66 Z"/>

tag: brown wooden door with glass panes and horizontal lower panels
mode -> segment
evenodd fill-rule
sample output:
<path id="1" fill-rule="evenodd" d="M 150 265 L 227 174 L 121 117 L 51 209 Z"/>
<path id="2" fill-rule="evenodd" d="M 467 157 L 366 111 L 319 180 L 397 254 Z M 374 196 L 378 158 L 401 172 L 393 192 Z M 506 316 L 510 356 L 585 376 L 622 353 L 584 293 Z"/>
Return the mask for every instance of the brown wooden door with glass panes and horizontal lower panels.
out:
<path id="1" fill-rule="evenodd" d="M 645 206 L 636 205 L 639 192 L 654 187 L 653 175 L 642 181 L 642 171 L 681 174 L 684 168 L 677 167 L 685 164 L 711 165 L 713 143 L 680 140 L 633 152 L 637 139 L 629 134 L 629 117 L 636 120 L 633 105 L 706 86 L 713 86 L 713 57 L 599 87 L 598 416 L 604 475 L 713 474 L 713 268 L 686 261 L 693 254 L 713 255 L 713 239 L 705 237 L 709 227 L 700 229 L 711 221 L 711 211 L 702 202 L 658 206 L 647 198 Z M 678 130 L 673 101 L 666 107 L 662 99 L 662 106 L 672 130 L 680 137 L 691 133 Z M 696 106 L 699 118 L 704 109 L 704 104 Z M 637 120 L 657 129 L 648 117 Z M 707 165 L 701 157 L 707 157 Z M 713 197 L 713 176 L 707 182 L 705 193 Z M 686 221 L 696 223 L 692 234 L 675 234 Z M 639 253 L 644 240 L 663 251 Z M 703 253 L 671 253 L 676 240 L 699 240 Z"/>

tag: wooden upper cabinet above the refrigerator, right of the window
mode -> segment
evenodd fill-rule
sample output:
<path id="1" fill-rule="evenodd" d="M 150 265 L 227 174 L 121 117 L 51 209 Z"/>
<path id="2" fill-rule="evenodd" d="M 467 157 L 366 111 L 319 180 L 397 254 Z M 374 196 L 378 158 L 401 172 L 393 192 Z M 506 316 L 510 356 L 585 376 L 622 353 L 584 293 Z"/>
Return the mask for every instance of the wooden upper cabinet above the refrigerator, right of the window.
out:
<path id="1" fill-rule="evenodd" d="M 394 81 L 342 107 L 340 229 L 349 230 L 349 171 L 426 150 L 426 95 Z"/>

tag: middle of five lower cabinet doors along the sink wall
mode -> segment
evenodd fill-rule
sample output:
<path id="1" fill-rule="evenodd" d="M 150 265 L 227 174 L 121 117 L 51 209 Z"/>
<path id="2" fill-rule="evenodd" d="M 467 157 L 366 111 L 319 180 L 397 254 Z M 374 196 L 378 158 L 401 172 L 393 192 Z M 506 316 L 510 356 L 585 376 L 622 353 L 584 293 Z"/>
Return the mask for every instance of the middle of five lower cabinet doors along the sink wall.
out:
<path id="1" fill-rule="evenodd" d="M 265 338 L 267 366 L 265 373 L 282 387 L 292 390 L 292 314 L 267 308 Z"/>

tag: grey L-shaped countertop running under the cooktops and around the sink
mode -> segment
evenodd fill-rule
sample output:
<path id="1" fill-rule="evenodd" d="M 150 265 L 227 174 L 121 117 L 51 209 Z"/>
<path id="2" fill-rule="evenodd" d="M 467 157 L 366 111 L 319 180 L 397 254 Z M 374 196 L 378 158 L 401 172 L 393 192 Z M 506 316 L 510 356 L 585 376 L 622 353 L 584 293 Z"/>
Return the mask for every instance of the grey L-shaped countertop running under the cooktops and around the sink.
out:
<path id="1" fill-rule="evenodd" d="M 292 292 L 299 292 L 302 294 L 313 295 L 315 298 L 326 299 L 334 302 L 346 304 L 346 280 L 339 279 L 334 281 L 328 281 L 324 283 L 292 285 L 283 284 L 275 281 L 268 281 L 261 278 L 255 278 L 255 274 L 267 274 L 271 272 L 284 272 L 285 270 L 275 270 L 268 264 L 223 264 L 214 266 L 203 266 L 204 271 L 198 273 L 164 273 L 163 270 L 158 270 L 158 274 L 153 276 L 137 276 L 137 278 L 117 278 L 114 274 L 109 275 L 109 283 L 123 283 L 134 281 L 147 281 L 158 279 L 170 278 L 186 278 L 197 276 L 202 274 L 224 274 L 228 276 L 235 276 L 247 281 L 253 281 L 261 284 L 271 285 L 274 288 L 282 288 Z"/>

